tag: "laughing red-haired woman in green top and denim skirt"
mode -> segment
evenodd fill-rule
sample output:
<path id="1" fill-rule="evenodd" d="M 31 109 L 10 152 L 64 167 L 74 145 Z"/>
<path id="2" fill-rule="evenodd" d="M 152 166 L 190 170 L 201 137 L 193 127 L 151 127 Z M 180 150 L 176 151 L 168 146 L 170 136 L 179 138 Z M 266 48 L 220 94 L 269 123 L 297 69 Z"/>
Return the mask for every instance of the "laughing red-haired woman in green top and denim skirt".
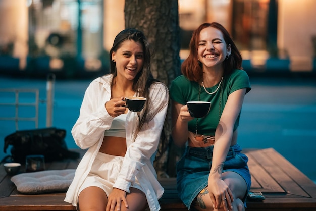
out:
<path id="1" fill-rule="evenodd" d="M 177 163 L 179 196 L 190 210 L 244 210 L 251 179 L 237 128 L 249 77 L 227 30 L 204 23 L 194 32 L 183 75 L 171 85 L 172 137 L 186 145 Z M 192 118 L 187 101 L 210 101 L 204 118 Z"/>

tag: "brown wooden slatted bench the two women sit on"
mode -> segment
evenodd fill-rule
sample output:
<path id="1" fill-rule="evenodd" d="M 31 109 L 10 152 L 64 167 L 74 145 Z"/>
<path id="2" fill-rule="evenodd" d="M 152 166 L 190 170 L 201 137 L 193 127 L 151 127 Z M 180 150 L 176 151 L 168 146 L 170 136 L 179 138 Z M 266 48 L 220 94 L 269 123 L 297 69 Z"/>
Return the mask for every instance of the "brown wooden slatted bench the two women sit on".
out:
<path id="1" fill-rule="evenodd" d="M 264 201 L 247 201 L 254 210 L 316 210 L 316 185 L 273 148 L 247 149 L 252 175 L 251 191 L 262 192 Z M 75 169 L 79 161 L 47 163 L 46 168 Z M 22 169 L 23 171 L 23 169 Z M 0 165 L 0 210 L 76 210 L 64 202 L 65 193 L 24 195 L 16 190 Z M 160 179 L 165 193 L 160 199 L 161 210 L 187 210 L 178 198 L 175 178 Z"/>

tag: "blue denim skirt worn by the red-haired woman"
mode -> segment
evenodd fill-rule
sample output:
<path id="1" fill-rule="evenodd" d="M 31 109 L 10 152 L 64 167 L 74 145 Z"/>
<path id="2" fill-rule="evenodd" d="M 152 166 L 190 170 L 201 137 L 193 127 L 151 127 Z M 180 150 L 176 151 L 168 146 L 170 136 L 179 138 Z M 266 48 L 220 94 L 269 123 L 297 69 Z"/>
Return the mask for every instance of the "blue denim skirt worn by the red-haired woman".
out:
<path id="1" fill-rule="evenodd" d="M 231 146 L 224 162 L 223 172 L 233 171 L 241 175 L 250 190 L 251 176 L 247 165 L 248 157 L 241 153 L 241 147 Z M 183 203 L 190 209 L 192 201 L 207 186 L 210 167 L 212 166 L 213 146 L 187 147 L 177 163 L 177 189 Z M 246 205 L 246 204 L 245 204 Z"/>

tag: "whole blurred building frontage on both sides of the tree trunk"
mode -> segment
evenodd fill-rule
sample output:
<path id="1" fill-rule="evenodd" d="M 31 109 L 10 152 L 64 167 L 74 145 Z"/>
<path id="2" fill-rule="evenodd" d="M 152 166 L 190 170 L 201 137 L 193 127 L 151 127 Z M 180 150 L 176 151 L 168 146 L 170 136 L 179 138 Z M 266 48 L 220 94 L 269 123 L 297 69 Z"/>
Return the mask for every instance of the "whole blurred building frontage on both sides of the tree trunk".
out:
<path id="1" fill-rule="evenodd" d="M 231 33 L 247 71 L 316 71 L 316 1 L 179 0 L 181 55 L 192 31 L 217 21 Z M 124 0 L 0 0 L 1 72 L 106 73 L 124 29 Z"/>

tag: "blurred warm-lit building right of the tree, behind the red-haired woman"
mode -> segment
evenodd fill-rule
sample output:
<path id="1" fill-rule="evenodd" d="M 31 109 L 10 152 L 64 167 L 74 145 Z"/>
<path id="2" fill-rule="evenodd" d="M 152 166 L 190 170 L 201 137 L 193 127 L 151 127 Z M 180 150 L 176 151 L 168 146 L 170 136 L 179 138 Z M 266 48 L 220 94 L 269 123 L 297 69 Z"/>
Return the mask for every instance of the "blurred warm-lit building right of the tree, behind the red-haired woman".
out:
<path id="1" fill-rule="evenodd" d="M 179 0 L 180 27 L 223 24 L 247 71 L 315 72 L 315 8 L 314 0 Z"/>

